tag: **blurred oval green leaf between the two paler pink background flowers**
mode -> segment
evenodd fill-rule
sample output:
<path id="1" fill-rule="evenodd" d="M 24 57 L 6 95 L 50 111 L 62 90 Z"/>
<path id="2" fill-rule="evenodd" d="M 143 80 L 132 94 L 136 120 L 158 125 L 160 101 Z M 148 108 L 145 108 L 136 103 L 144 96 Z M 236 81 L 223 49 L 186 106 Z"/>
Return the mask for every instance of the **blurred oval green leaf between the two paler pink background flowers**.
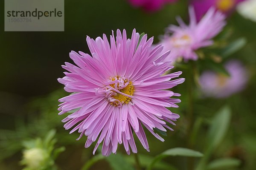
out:
<path id="1" fill-rule="evenodd" d="M 223 58 L 226 58 L 226 57 L 230 56 L 231 54 L 235 53 L 236 51 L 239 51 L 241 48 L 244 47 L 244 45 L 246 45 L 246 39 L 243 37 L 239 38 L 236 41 L 233 41 L 229 45 L 227 45 L 227 47 L 225 47 L 221 51 L 221 56 Z"/>

